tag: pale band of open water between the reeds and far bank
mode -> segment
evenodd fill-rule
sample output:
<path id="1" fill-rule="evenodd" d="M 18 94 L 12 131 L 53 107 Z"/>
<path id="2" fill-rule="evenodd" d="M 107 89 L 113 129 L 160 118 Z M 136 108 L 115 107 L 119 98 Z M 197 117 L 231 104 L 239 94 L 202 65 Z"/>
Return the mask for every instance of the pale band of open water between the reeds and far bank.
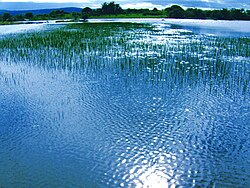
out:
<path id="1" fill-rule="evenodd" d="M 222 34 L 224 32 L 232 35 L 238 33 L 242 36 L 250 36 L 250 21 L 246 20 L 204 20 L 204 19 L 170 19 L 170 18 L 91 18 L 88 22 L 64 20 L 41 20 L 18 22 L 9 25 L 0 25 L 1 28 L 8 27 L 9 30 L 25 30 L 25 28 L 37 28 L 46 25 L 66 25 L 83 23 L 104 23 L 104 22 L 131 22 L 131 23 L 151 23 L 158 24 L 159 27 L 179 26 L 182 29 L 193 31 L 203 31 L 205 33 Z M 13 27 L 13 28 L 12 28 Z M 21 28 L 21 29 L 20 29 Z M 3 29 L 4 30 L 4 29 Z M 3 31 L 4 32 L 4 31 Z M 1 32 L 0 32 L 1 33 Z"/>

